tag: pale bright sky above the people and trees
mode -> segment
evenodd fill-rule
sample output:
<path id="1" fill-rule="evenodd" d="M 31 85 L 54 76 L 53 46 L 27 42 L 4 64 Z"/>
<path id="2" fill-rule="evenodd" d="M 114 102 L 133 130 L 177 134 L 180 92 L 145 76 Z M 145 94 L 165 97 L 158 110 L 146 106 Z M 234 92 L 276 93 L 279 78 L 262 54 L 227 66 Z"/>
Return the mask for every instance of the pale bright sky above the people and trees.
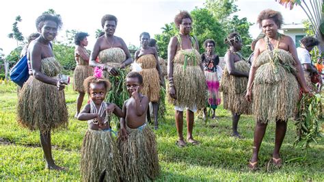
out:
<path id="1" fill-rule="evenodd" d="M 275 0 L 235 0 L 239 12 L 235 13 L 239 18 L 247 17 L 251 23 L 256 22 L 258 13 L 267 8 L 282 12 L 284 23 L 301 23 L 306 19 L 306 14 L 297 7 L 288 10 Z M 36 8 L 37 7 L 37 8 Z M 87 49 L 92 50 L 96 29 L 101 29 L 100 20 L 105 14 L 113 14 L 118 18 L 116 36 L 123 38 L 126 44 L 134 44 L 139 47 L 139 34 L 143 31 L 161 34 L 161 27 L 165 23 L 171 23 L 174 16 L 180 10 L 191 11 L 195 7 L 203 8 L 204 0 L 10 0 L 1 3 L 0 17 L 0 48 L 8 55 L 16 47 L 16 40 L 8 38 L 12 32 L 12 23 L 15 17 L 20 15 L 19 30 L 27 38 L 29 34 L 36 32 L 35 21 L 42 12 L 53 9 L 61 14 L 63 27 L 58 32 L 57 40 L 62 40 L 66 29 L 85 31 L 90 36 Z M 258 25 L 252 25 L 249 29 L 252 38 L 260 33 Z"/>

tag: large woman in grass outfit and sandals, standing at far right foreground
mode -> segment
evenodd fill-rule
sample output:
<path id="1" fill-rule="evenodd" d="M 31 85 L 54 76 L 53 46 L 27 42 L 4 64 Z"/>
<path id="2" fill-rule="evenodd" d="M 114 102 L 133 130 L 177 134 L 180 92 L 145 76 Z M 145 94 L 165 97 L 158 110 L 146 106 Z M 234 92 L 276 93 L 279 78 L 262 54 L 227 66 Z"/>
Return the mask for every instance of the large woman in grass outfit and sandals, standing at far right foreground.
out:
<path id="1" fill-rule="evenodd" d="M 310 92 L 297 59 L 295 43 L 289 36 L 278 34 L 282 25 L 280 12 L 263 10 L 258 15 L 258 24 L 265 38 L 256 43 L 245 96 L 247 101 L 253 100 L 256 118 L 253 154 L 248 165 L 251 169 L 258 164 L 258 152 L 269 122 L 275 122 L 271 160 L 275 166 L 282 165 L 280 147 L 286 135 L 287 120 L 296 112 L 299 86 L 303 92 Z"/>

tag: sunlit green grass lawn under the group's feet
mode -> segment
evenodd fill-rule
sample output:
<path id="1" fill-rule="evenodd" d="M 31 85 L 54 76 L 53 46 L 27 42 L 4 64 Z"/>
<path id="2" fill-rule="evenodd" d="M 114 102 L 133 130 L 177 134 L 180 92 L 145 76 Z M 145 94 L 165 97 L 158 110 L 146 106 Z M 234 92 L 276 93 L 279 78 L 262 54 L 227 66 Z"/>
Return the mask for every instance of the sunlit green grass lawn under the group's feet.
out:
<path id="1" fill-rule="evenodd" d="M 72 87 L 66 88 L 69 126 L 53 133 L 53 156 L 63 172 L 44 170 L 39 133 L 29 131 L 16 122 L 16 86 L 0 83 L 0 179 L 19 181 L 80 181 L 80 148 L 87 123 L 73 118 L 77 94 Z M 159 150 L 161 175 L 157 181 L 324 181 L 324 142 L 312 144 L 306 161 L 286 163 L 277 169 L 268 165 L 274 146 L 275 125 L 269 124 L 262 142 L 259 168 L 251 172 L 247 161 L 252 154 L 254 120 L 252 116 L 242 116 L 239 130 L 243 140 L 230 137 L 230 113 L 219 107 L 217 120 L 204 125 L 196 118 L 195 139 L 199 146 L 189 145 L 178 148 L 174 110 L 167 105 L 165 122 L 155 131 Z M 186 131 L 187 127 L 185 127 Z M 305 151 L 293 148 L 295 126 L 288 122 L 288 131 L 282 146 L 284 160 L 303 156 Z M 185 132 L 186 133 L 186 132 Z"/>

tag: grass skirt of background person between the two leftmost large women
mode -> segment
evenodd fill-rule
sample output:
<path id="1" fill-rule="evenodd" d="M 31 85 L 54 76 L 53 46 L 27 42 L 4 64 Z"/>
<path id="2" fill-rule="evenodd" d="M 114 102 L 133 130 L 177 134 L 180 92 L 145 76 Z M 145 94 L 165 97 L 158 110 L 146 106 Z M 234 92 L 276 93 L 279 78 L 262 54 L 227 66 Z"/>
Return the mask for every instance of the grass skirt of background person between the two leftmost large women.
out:
<path id="1" fill-rule="evenodd" d="M 73 73 L 73 90 L 85 92 L 83 81 L 91 75 L 94 75 L 94 69 L 91 66 L 77 65 Z"/>

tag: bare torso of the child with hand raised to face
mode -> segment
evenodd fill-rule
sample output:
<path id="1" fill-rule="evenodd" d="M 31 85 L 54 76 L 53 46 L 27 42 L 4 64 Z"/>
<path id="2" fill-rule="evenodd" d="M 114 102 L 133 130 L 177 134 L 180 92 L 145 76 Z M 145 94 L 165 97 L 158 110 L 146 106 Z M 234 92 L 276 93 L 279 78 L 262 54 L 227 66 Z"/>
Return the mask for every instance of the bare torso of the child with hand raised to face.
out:
<path id="1" fill-rule="evenodd" d="M 139 100 L 144 96 L 139 96 Z M 135 99 L 131 97 L 126 101 L 126 116 L 125 116 L 125 122 L 128 127 L 131 129 L 136 129 L 138 127 L 141 127 L 141 125 L 144 125 L 146 122 L 146 112 L 142 114 L 141 116 L 137 116 L 136 114 L 136 107 L 135 107 Z"/>

